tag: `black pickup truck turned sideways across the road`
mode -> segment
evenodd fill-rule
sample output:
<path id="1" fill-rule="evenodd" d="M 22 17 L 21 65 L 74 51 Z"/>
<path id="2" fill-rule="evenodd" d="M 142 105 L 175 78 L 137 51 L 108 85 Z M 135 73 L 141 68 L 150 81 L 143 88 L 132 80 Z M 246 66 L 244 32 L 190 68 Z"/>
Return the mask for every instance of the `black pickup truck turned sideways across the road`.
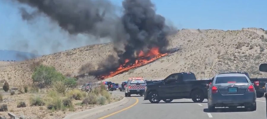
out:
<path id="1" fill-rule="evenodd" d="M 207 98 L 207 85 L 212 80 L 196 80 L 194 73 L 173 73 L 161 82 L 146 86 L 144 100 L 167 103 L 173 99 L 191 98 L 194 102 L 202 102 Z"/>

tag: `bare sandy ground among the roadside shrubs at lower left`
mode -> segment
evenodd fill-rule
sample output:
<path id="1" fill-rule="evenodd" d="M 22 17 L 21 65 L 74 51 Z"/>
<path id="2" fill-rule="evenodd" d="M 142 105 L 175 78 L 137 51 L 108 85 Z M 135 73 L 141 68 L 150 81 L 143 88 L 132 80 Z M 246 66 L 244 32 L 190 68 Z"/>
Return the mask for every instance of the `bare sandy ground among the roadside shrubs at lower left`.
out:
<path id="1" fill-rule="evenodd" d="M 73 100 L 72 104 L 74 104 L 75 111 L 70 111 L 69 109 L 66 109 L 65 111 L 62 111 L 62 110 L 51 111 L 51 110 L 48 110 L 46 106 L 30 106 L 29 97 L 36 96 L 36 95 L 40 95 L 41 97 L 46 96 L 45 94 L 4 95 L 4 101 L 0 102 L 0 105 L 7 104 L 8 111 L 0 112 L 0 115 L 4 115 L 9 118 L 8 112 L 12 112 L 16 115 L 23 114 L 26 117 L 26 119 L 61 119 L 71 113 L 80 112 L 86 109 L 91 109 L 91 108 L 101 106 L 99 104 L 79 106 L 75 104 L 81 103 L 82 101 Z M 111 101 L 107 102 L 106 104 L 120 101 L 121 99 L 123 99 L 122 96 L 112 95 Z M 26 107 L 17 108 L 17 105 L 20 101 L 24 101 L 26 103 Z"/>

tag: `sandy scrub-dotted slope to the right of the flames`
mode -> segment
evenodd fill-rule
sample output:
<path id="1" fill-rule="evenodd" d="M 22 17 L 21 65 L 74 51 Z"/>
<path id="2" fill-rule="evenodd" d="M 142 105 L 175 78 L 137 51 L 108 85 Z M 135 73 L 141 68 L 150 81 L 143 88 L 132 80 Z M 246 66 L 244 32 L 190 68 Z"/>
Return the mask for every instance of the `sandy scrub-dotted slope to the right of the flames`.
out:
<path id="1" fill-rule="evenodd" d="M 251 77 L 265 77 L 267 73 L 258 71 L 258 66 L 267 61 L 267 50 L 262 51 L 266 49 L 267 43 L 257 33 L 249 30 L 184 29 L 170 37 L 170 48 L 181 46 L 179 53 L 136 68 L 134 73 L 123 73 L 106 81 L 121 82 L 132 76 L 164 79 L 171 73 L 182 71 L 194 72 L 198 79 L 210 78 L 225 71 L 247 71 Z M 223 55 L 225 56 L 216 62 L 209 75 L 217 57 Z"/>

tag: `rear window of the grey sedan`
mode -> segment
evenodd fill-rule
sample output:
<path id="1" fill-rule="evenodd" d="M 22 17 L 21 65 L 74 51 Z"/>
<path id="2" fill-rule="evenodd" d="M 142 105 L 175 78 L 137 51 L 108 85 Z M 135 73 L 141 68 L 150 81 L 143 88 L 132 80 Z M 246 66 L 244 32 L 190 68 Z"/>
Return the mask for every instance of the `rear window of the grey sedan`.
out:
<path id="1" fill-rule="evenodd" d="M 245 76 L 217 77 L 215 84 L 222 84 L 222 83 L 248 83 L 248 81 Z"/>

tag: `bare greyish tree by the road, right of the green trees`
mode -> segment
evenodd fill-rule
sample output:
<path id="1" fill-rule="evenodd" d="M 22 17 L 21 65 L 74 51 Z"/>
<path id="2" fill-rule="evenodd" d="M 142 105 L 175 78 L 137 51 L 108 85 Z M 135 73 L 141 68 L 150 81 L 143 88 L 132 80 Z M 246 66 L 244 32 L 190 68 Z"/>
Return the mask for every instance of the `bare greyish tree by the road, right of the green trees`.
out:
<path id="1" fill-rule="evenodd" d="M 91 76 L 91 75 L 85 74 L 84 77 L 81 77 L 81 78 L 79 78 L 79 79 L 77 80 L 77 84 L 79 84 L 79 85 L 90 84 L 90 86 L 89 86 L 89 90 L 86 90 L 86 92 L 87 92 L 88 94 L 90 94 L 91 91 L 92 91 L 92 86 L 93 86 L 92 84 L 96 83 L 97 81 L 98 81 L 98 80 L 96 79 L 95 76 Z"/>

